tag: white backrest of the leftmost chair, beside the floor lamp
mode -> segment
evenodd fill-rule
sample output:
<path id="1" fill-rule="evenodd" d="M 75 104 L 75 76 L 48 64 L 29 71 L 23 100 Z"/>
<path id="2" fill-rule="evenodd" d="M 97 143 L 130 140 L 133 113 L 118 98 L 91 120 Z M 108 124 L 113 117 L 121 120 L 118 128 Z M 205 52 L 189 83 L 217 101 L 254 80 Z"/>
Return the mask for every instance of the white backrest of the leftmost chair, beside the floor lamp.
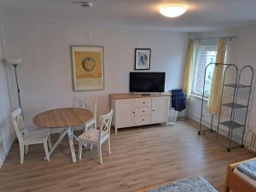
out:
<path id="1" fill-rule="evenodd" d="M 24 123 L 20 108 L 16 109 L 13 113 L 11 113 L 11 121 L 14 125 L 15 132 L 19 142 L 22 142 L 23 135 L 26 132 L 26 128 L 25 128 L 25 123 Z"/>

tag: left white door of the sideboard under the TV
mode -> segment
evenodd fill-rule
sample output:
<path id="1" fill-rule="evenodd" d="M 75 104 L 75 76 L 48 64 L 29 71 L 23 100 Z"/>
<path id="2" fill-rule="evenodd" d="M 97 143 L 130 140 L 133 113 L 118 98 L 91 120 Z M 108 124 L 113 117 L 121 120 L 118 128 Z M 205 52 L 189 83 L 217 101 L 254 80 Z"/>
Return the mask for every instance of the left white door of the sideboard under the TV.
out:
<path id="1" fill-rule="evenodd" d="M 123 99 L 116 101 L 115 121 L 117 128 L 134 124 L 134 101 Z"/>

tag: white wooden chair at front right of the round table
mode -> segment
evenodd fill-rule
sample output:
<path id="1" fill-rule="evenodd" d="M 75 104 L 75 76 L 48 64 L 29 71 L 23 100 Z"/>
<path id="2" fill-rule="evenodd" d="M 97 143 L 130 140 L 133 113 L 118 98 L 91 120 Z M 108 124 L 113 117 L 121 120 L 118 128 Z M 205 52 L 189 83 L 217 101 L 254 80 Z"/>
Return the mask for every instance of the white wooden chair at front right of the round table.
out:
<path id="1" fill-rule="evenodd" d="M 108 114 L 102 115 L 101 125 L 99 130 L 96 128 L 86 130 L 82 135 L 79 136 L 79 160 L 82 157 L 82 147 L 84 143 L 90 143 L 92 145 L 96 145 L 98 149 L 99 155 L 99 163 L 102 164 L 102 143 L 105 143 L 108 140 L 108 153 L 111 154 L 110 149 L 110 128 L 111 121 L 113 116 L 113 110 L 111 110 Z"/>

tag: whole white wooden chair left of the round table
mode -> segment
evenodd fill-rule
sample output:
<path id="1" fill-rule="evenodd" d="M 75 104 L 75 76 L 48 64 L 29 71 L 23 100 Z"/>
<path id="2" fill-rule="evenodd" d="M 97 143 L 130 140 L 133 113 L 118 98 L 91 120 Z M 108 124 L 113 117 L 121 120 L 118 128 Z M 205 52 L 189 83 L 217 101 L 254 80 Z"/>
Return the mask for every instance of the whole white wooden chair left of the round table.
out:
<path id="1" fill-rule="evenodd" d="M 49 161 L 49 148 L 51 149 L 49 130 L 41 130 L 41 131 L 26 131 L 26 126 L 24 120 L 21 115 L 20 108 L 16 109 L 13 113 L 11 113 L 11 121 L 14 125 L 16 135 L 20 144 L 20 164 L 24 162 L 24 148 L 26 148 L 25 153 L 28 153 L 28 145 L 43 143 L 44 151 L 46 155 L 46 159 Z"/>

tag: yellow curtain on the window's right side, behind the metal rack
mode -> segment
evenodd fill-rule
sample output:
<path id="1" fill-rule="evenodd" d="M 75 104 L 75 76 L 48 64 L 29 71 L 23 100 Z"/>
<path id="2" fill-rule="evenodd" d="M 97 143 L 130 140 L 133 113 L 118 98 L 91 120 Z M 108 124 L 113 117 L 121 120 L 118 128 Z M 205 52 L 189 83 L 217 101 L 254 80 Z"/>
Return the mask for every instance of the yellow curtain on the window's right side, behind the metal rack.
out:
<path id="1" fill-rule="evenodd" d="M 224 63 L 225 52 L 226 52 L 226 39 L 218 40 L 218 51 L 216 56 L 217 63 Z M 222 90 L 222 81 L 223 81 L 223 71 L 224 66 L 218 65 L 214 68 L 213 78 L 212 78 L 212 88 L 209 101 L 207 102 L 207 107 L 209 113 L 218 114 L 219 113 L 219 103 Z"/>

